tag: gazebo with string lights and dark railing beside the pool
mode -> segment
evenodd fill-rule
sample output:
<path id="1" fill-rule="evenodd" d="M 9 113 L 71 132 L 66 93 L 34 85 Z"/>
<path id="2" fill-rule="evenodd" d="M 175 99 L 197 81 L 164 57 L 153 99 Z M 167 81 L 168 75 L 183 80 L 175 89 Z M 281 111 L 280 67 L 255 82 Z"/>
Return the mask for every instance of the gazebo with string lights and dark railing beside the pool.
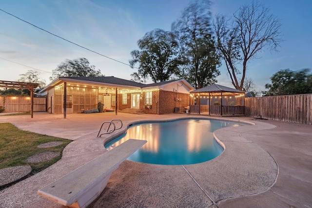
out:
<path id="1" fill-rule="evenodd" d="M 245 92 L 214 84 L 190 92 L 190 113 L 244 114 Z"/>

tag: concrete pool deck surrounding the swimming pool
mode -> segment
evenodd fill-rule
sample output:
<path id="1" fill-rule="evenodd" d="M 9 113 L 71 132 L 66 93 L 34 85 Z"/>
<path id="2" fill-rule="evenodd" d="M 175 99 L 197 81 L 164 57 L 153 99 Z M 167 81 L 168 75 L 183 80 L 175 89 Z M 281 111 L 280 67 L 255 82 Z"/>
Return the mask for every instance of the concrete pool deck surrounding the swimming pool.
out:
<path id="1" fill-rule="evenodd" d="M 121 119 L 127 125 L 142 120 L 170 120 L 196 115 L 133 115 L 93 113 L 0 116 L 30 132 L 74 140 L 62 159 L 49 168 L 0 191 L 0 207 L 62 206 L 40 197 L 37 190 L 80 167 L 105 150 L 97 138 L 100 124 Z M 199 116 L 207 118 L 207 116 Z M 98 207 L 312 207 L 312 126 L 249 117 L 208 117 L 251 121 L 255 125 L 215 131 L 225 151 L 214 160 L 185 166 L 123 162 L 113 173 Z"/>

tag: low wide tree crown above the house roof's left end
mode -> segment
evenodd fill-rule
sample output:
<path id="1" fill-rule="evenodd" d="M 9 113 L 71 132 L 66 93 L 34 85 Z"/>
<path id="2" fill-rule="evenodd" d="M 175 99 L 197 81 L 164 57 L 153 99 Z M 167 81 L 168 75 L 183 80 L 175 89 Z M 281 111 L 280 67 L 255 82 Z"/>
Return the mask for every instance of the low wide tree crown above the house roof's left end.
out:
<path id="1" fill-rule="evenodd" d="M 52 71 L 50 80 L 54 80 L 61 76 L 103 76 L 100 70 L 89 63 L 86 58 L 78 58 L 74 60 L 66 59 L 58 68 Z"/>

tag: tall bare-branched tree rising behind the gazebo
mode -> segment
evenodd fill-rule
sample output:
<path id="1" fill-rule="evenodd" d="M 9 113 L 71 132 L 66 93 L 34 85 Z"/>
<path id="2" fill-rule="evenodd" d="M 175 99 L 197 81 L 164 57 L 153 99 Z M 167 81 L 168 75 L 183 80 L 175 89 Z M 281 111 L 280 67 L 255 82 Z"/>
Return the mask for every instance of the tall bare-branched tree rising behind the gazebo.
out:
<path id="1" fill-rule="evenodd" d="M 280 26 L 280 20 L 270 15 L 269 9 L 258 2 L 241 6 L 234 13 L 232 22 L 222 15 L 216 16 L 214 28 L 217 49 L 225 61 L 235 89 L 243 89 L 250 59 L 265 47 L 277 51 L 282 41 Z"/>

